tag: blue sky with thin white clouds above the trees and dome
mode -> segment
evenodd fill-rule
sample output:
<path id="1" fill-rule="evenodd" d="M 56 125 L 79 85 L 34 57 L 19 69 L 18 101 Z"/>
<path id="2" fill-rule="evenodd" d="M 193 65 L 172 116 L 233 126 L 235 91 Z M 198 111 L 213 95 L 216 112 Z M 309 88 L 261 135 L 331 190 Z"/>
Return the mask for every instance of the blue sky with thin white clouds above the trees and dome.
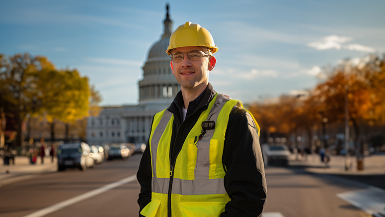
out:
<path id="1" fill-rule="evenodd" d="M 78 69 L 102 106 L 136 104 L 166 2 L 173 29 L 191 21 L 211 32 L 210 82 L 243 103 L 312 89 L 323 66 L 385 52 L 384 0 L 1 0 L 0 53 Z"/>

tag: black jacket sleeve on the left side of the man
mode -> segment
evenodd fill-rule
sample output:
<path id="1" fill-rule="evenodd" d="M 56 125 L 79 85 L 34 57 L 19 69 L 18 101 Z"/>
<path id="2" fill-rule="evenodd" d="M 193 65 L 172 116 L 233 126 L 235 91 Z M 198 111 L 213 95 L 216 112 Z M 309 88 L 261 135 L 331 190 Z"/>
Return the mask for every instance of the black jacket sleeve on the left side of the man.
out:
<path id="1" fill-rule="evenodd" d="M 154 121 L 154 117 L 153 117 Z M 152 124 L 151 124 L 152 125 Z M 137 172 L 137 179 L 141 185 L 141 192 L 139 193 L 139 213 L 146 207 L 151 201 L 151 182 L 152 182 L 152 168 L 151 168 L 151 152 L 150 152 L 150 136 L 147 142 L 146 149 L 142 155 L 142 159 Z M 140 217 L 143 217 L 139 214 Z"/>

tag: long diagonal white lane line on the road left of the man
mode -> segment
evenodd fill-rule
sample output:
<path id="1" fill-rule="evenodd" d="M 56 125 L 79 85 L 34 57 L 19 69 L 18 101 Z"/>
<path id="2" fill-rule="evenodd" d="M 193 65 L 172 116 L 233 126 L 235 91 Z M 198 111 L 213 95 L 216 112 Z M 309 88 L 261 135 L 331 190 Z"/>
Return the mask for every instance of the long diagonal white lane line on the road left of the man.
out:
<path id="1" fill-rule="evenodd" d="M 68 199 L 66 201 L 54 204 L 54 205 L 52 205 L 50 207 L 47 207 L 47 208 L 44 208 L 42 210 L 36 211 L 36 212 L 31 213 L 31 214 L 29 214 L 27 216 L 24 216 L 24 217 L 42 217 L 42 216 L 45 216 L 45 215 L 53 213 L 53 212 L 55 212 L 57 210 L 60 210 L 60 209 L 63 209 L 65 207 L 68 207 L 70 205 L 73 205 L 73 204 L 75 204 L 75 203 L 77 203 L 79 201 L 83 201 L 85 199 L 88 199 L 88 198 L 91 198 L 93 196 L 99 195 L 101 193 L 109 191 L 109 190 L 111 190 L 113 188 L 116 188 L 118 186 L 121 186 L 121 185 L 124 185 L 126 183 L 132 182 L 134 180 L 136 180 L 136 175 L 133 175 L 133 176 L 124 178 L 122 180 L 110 183 L 108 185 L 105 185 L 105 186 L 102 186 L 102 187 L 97 188 L 95 190 L 86 192 L 86 193 L 81 194 L 79 196 L 76 196 L 74 198 L 71 198 L 71 199 Z"/>

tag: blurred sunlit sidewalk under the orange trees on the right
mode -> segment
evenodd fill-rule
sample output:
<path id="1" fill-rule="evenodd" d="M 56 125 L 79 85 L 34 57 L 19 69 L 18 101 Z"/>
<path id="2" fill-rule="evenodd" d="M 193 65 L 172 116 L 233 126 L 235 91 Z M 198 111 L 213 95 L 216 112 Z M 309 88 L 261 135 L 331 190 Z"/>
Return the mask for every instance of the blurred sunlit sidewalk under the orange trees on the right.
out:
<path id="1" fill-rule="evenodd" d="M 350 168 L 345 171 L 345 156 L 331 155 L 331 160 L 327 165 L 320 161 L 318 154 L 311 154 L 307 157 L 291 155 L 289 165 L 304 167 L 311 173 L 327 173 L 341 175 L 385 175 L 385 155 L 370 155 L 364 157 L 364 169 L 357 170 L 357 159 L 355 156 L 350 158 Z"/>

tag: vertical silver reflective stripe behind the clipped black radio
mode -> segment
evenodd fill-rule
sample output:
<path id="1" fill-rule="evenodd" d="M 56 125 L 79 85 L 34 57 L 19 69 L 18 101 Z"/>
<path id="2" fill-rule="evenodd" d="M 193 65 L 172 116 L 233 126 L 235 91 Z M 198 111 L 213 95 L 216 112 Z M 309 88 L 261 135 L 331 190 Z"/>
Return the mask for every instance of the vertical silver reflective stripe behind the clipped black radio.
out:
<path id="1" fill-rule="evenodd" d="M 219 94 L 211 108 L 207 120 L 214 120 L 217 123 L 218 115 L 225 103 L 229 101 L 223 94 Z M 205 135 L 197 143 L 198 153 L 195 166 L 195 180 L 208 180 L 210 171 L 210 140 L 213 138 L 215 129 L 206 130 Z"/>

